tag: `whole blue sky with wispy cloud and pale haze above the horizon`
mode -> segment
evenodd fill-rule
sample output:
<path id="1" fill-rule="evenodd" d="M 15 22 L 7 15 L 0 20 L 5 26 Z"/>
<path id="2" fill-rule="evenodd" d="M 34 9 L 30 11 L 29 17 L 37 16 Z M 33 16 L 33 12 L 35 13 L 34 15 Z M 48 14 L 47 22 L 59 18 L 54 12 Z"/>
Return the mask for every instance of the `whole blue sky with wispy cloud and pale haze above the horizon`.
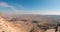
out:
<path id="1" fill-rule="evenodd" d="M 0 12 L 60 15 L 60 0 L 0 0 Z"/>

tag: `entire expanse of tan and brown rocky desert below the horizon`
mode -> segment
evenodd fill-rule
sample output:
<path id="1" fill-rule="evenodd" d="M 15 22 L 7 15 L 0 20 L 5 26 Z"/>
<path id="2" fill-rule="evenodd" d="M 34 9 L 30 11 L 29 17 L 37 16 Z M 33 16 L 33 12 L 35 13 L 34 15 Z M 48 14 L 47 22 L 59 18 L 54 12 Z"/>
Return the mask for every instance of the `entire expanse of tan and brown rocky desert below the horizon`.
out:
<path id="1" fill-rule="evenodd" d="M 55 32 L 59 19 L 52 15 L 0 16 L 0 32 Z"/>

